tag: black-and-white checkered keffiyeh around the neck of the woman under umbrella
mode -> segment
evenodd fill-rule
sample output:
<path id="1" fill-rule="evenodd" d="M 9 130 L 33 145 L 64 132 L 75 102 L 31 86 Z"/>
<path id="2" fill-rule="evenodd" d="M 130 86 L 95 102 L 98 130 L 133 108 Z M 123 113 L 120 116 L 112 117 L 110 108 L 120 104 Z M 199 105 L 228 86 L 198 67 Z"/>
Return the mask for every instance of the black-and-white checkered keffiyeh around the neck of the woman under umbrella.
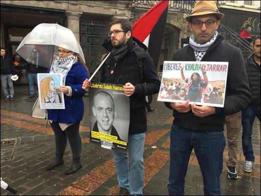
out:
<path id="1" fill-rule="evenodd" d="M 64 58 L 57 58 L 55 59 L 54 63 L 52 64 L 52 67 L 50 69 L 50 73 L 57 73 L 62 74 L 62 83 L 65 85 L 65 78 L 68 74 L 68 72 L 71 70 L 72 65 L 77 62 L 78 58 L 77 56 L 70 55 Z"/>

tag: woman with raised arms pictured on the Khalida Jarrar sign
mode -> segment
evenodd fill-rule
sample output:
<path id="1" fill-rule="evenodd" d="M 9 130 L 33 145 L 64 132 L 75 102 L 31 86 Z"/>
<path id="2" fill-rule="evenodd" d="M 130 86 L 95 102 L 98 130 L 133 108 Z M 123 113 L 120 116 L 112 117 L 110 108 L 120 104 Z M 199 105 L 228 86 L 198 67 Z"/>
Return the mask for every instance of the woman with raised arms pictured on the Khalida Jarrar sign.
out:
<path id="1" fill-rule="evenodd" d="M 187 99 L 189 99 L 190 101 L 193 101 L 193 102 L 201 102 L 201 96 L 202 96 L 201 90 L 202 90 L 202 88 L 205 88 L 208 84 L 208 79 L 207 79 L 207 75 L 206 75 L 206 71 L 205 71 L 205 65 L 203 64 L 201 66 L 201 71 L 202 71 L 204 80 L 201 79 L 200 74 L 197 72 L 194 72 L 191 75 L 190 80 L 186 79 L 183 74 L 183 69 L 184 69 L 184 67 L 181 66 L 180 67 L 181 77 L 186 83 L 188 83 L 186 86 L 186 89 L 188 90 Z"/>

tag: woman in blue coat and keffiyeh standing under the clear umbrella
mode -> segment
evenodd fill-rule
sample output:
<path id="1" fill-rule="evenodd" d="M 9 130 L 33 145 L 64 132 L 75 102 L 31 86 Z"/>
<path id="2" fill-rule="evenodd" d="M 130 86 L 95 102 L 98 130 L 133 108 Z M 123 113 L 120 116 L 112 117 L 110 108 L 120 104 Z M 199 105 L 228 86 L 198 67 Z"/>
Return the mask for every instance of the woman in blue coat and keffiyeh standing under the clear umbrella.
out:
<path id="1" fill-rule="evenodd" d="M 48 72 L 62 74 L 62 85 L 59 90 L 64 93 L 65 109 L 48 110 L 48 119 L 55 133 L 56 141 L 56 159 L 47 167 L 47 170 L 63 164 L 63 154 L 66 148 L 67 139 L 73 155 L 73 164 L 66 170 L 65 174 L 69 175 L 82 168 L 81 149 L 82 139 L 79 134 L 80 122 L 84 115 L 83 96 L 86 93 L 82 89 L 82 84 L 88 78 L 87 70 L 83 63 L 78 61 L 77 55 L 69 50 L 68 46 L 58 48 L 58 57 L 54 60 Z M 48 89 L 50 94 L 55 94 L 55 86 L 53 81 L 48 81 Z M 48 93 L 49 94 L 49 93 Z M 55 101 L 56 96 L 45 97 L 45 100 Z M 47 99 L 48 98 L 48 99 Z"/>

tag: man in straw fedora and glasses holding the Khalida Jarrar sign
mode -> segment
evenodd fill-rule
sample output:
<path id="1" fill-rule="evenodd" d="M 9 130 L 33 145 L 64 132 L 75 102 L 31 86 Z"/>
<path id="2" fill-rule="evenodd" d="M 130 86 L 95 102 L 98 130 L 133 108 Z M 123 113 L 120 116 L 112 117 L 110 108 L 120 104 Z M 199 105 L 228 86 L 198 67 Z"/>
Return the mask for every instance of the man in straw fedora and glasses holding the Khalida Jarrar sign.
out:
<path id="1" fill-rule="evenodd" d="M 214 1 L 200 0 L 186 17 L 193 32 L 189 45 L 174 53 L 175 61 L 229 62 L 224 108 L 165 103 L 173 110 L 171 129 L 169 195 L 184 195 L 185 176 L 194 149 L 204 183 L 204 195 L 221 195 L 220 175 L 225 148 L 225 115 L 245 108 L 251 93 L 241 51 L 216 31 L 224 14 Z M 204 72 L 203 74 L 205 74 Z"/>

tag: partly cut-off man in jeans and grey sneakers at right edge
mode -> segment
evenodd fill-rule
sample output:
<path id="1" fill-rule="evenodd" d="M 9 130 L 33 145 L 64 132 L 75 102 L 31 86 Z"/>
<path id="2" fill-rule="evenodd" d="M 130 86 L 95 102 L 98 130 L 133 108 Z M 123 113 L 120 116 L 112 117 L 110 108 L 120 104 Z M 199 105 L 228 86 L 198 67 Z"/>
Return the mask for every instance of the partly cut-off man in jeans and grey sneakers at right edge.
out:
<path id="1" fill-rule="evenodd" d="M 245 62 L 252 100 L 249 106 L 242 110 L 242 148 L 246 160 L 243 170 L 246 172 L 253 170 L 255 162 L 252 131 L 256 116 L 260 122 L 260 36 L 253 40 L 252 50 L 253 54 Z"/>

